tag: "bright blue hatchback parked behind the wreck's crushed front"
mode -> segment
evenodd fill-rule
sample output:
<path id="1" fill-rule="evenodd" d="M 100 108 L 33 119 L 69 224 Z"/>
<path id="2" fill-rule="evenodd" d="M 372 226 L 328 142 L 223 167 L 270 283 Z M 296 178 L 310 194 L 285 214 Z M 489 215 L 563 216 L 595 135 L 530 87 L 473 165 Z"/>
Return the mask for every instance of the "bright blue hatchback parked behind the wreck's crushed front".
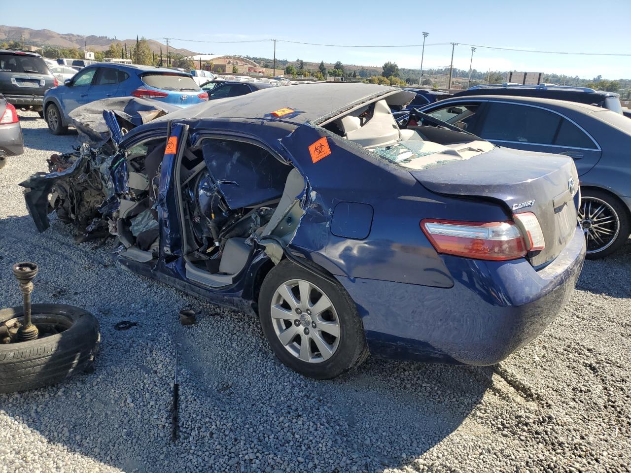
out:
<path id="1" fill-rule="evenodd" d="M 75 108 L 102 98 L 134 96 L 187 107 L 208 100 L 191 74 L 164 67 L 99 62 L 79 71 L 63 86 L 44 96 L 44 118 L 52 134 L 63 134 L 72 124 Z"/>

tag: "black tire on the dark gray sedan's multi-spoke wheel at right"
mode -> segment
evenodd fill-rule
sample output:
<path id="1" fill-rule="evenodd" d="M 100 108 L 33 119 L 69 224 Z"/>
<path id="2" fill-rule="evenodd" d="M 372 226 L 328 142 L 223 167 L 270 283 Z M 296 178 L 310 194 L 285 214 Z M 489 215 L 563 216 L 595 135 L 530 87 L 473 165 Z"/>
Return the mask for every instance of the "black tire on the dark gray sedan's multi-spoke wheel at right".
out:
<path id="1" fill-rule="evenodd" d="M 631 223 L 629 221 L 628 209 L 616 197 L 608 192 L 598 189 L 581 190 L 582 201 L 579 209 L 579 220 L 583 226 L 587 242 L 587 259 L 599 259 L 611 255 L 618 251 L 622 245 L 627 242 L 631 233 Z M 591 204 L 591 207 L 589 207 Z M 595 215 L 595 219 L 589 218 L 589 213 L 596 213 L 603 206 L 604 214 Z M 611 215 L 613 219 L 606 219 L 603 216 Z M 611 222 L 601 226 L 601 231 L 607 231 L 610 235 L 597 235 L 599 240 L 594 237 L 594 230 L 591 228 L 593 224 L 601 221 Z M 591 230 L 590 230 L 591 228 Z"/>

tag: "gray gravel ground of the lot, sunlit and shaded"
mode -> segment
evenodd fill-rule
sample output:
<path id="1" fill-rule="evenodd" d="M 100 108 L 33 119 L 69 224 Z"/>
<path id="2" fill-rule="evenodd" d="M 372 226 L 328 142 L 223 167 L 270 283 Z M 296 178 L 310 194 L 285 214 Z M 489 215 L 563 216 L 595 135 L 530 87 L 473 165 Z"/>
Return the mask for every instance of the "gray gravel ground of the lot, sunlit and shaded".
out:
<path id="1" fill-rule="evenodd" d="M 369 359 L 329 382 L 282 366 L 256 320 L 114 264 L 111 243 L 38 234 L 16 186 L 76 135 L 21 113 L 26 151 L 0 172 L 0 307 L 11 264 L 40 265 L 35 302 L 100 320 L 96 371 L 0 395 L 0 472 L 631 471 L 631 243 L 586 262 L 560 317 L 498 366 Z M 182 327 L 192 307 L 198 324 Z M 120 320 L 139 327 L 113 329 Z M 170 443 L 174 354 L 180 440 Z"/>

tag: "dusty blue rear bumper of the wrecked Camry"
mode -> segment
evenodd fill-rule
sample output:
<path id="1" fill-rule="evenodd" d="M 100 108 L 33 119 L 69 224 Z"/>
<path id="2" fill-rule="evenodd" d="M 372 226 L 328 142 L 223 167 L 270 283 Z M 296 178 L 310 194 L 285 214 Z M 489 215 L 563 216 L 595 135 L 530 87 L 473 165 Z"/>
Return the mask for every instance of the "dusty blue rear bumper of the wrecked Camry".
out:
<path id="1" fill-rule="evenodd" d="M 538 336 L 574 290 L 585 258 L 580 228 L 562 254 L 534 271 L 526 260 L 445 256 L 449 289 L 338 277 L 357 303 L 372 354 L 493 365 Z"/>

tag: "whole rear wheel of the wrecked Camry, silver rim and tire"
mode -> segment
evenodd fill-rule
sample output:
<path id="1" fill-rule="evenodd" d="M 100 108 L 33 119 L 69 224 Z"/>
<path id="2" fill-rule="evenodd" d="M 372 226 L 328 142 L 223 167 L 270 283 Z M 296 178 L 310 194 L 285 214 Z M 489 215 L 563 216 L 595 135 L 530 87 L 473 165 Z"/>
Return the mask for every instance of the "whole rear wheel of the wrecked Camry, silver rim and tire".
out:
<path id="1" fill-rule="evenodd" d="M 259 318 L 274 354 L 306 377 L 334 378 L 368 355 L 357 306 L 343 286 L 290 260 L 264 279 Z"/>

